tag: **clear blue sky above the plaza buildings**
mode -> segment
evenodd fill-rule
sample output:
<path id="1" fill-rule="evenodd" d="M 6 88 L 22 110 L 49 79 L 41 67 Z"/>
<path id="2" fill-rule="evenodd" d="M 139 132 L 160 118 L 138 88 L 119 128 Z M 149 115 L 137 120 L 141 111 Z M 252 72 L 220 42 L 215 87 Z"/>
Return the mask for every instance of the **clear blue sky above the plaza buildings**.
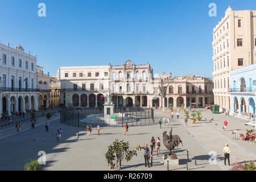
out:
<path id="1" fill-rule="evenodd" d="M 46 17 L 38 16 L 40 2 Z M 51 75 L 61 66 L 129 59 L 148 61 L 154 73 L 212 77 L 212 31 L 229 5 L 256 9 L 254 0 L 1 0 L 0 41 L 36 53 Z"/>

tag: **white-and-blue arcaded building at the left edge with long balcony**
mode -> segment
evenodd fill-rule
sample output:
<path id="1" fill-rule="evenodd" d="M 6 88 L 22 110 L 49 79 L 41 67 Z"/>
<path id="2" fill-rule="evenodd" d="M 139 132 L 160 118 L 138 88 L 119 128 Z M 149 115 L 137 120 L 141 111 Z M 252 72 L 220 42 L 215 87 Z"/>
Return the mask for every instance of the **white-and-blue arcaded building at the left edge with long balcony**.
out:
<path id="1" fill-rule="evenodd" d="M 36 55 L 25 53 L 22 46 L 0 44 L 0 111 L 38 110 Z"/>

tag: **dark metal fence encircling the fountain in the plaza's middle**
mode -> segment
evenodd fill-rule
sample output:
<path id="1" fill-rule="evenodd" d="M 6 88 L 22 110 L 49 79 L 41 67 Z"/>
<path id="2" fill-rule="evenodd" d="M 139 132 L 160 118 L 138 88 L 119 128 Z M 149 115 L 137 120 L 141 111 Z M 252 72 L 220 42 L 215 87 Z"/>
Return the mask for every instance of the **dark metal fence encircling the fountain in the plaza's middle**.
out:
<path id="1" fill-rule="evenodd" d="M 69 108 L 60 113 L 60 122 L 69 126 L 123 127 L 154 124 L 154 110 L 141 107 L 115 107 L 114 114 L 104 115 L 104 110 L 94 108 Z"/>

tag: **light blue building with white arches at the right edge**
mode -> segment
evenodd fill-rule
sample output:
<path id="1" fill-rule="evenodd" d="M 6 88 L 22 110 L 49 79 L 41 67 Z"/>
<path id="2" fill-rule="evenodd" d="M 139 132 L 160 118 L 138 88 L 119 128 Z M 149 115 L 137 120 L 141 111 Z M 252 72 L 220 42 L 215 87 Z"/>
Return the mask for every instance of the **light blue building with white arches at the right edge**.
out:
<path id="1" fill-rule="evenodd" d="M 230 71 L 231 114 L 255 114 L 256 64 Z"/>

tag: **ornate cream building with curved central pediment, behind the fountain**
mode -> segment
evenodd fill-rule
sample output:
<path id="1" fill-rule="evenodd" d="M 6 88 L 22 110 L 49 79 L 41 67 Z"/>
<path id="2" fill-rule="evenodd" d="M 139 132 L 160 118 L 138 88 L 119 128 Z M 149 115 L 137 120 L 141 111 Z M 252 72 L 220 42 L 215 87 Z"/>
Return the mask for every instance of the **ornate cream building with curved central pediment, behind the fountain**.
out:
<path id="1" fill-rule="evenodd" d="M 153 69 L 150 64 L 135 65 L 127 60 L 123 65 L 110 65 L 110 88 L 115 106 L 150 104 Z"/>

